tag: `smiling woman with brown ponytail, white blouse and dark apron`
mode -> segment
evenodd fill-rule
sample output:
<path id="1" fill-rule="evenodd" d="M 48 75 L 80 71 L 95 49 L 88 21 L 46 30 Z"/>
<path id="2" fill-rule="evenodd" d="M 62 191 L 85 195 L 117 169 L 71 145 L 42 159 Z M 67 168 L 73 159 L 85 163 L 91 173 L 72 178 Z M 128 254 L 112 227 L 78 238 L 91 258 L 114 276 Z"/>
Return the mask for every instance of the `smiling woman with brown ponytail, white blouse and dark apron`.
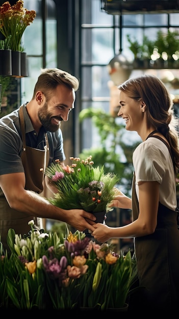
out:
<path id="1" fill-rule="evenodd" d="M 118 88 L 118 116 L 143 142 L 133 153 L 132 200 L 119 192 L 111 206 L 132 208 L 133 219 L 116 228 L 97 223 L 92 235 L 99 242 L 134 237 L 139 284 L 145 287 L 137 302 L 149 311 L 173 310 L 179 300 L 178 122 L 170 94 L 156 76 L 131 78 Z"/>

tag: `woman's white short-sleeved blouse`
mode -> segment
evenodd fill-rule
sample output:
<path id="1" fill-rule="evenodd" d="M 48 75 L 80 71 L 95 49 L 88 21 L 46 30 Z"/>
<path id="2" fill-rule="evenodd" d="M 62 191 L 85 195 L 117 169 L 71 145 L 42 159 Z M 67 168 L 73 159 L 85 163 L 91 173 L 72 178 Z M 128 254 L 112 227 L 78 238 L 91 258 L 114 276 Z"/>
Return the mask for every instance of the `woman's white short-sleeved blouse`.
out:
<path id="1" fill-rule="evenodd" d="M 158 181 L 160 184 L 160 203 L 175 210 L 176 182 L 167 146 L 159 139 L 148 138 L 135 149 L 133 166 L 136 175 L 135 187 L 138 199 L 139 181 Z"/>

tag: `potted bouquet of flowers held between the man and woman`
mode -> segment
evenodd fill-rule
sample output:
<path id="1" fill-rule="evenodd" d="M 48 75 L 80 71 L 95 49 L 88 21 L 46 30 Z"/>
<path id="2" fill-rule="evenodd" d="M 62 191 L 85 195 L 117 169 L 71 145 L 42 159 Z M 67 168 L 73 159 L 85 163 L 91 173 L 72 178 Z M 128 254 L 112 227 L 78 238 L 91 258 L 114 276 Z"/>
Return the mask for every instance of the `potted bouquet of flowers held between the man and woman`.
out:
<path id="1" fill-rule="evenodd" d="M 119 178 L 104 173 L 104 168 L 94 168 L 92 156 L 87 159 L 70 157 L 71 166 L 63 168 L 57 160 L 46 168 L 45 174 L 58 189 L 49 201 L 64 209 L 84 209 L 88 212 L 109 211 Z"/>

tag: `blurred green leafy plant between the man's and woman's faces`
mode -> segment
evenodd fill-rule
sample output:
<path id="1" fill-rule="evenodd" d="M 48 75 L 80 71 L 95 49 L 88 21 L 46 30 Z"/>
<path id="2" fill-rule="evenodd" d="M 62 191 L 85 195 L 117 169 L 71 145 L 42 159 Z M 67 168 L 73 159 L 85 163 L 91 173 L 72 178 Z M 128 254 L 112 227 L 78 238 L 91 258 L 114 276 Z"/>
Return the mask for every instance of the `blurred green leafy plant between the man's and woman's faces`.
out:
<path id="1" fill-rule="evenodd" d="M 83 149 L 79 156 L 83 158 L 90 153 L 97 166 L 104 166 L 105 173 L 113 172 L 119 175 L 120 185 L 124 186 L 125 194 L 130 195 L 134 170 L 132 154 L 139 142 L 127 141 L 124 143 L 122 137 L 125 133 L 125 125 L 119 123 L 118 119 L 104 110 L 94 108 L 82 110 L 79 114 L 80 122 L 88 118 L 91 118 L 97 127 L 100 145 L 96 148 Z M 120 153 L 119 149 L 121 149 Z M 125 163 L 120 161 L 121 154 L 126 157 Z"/>

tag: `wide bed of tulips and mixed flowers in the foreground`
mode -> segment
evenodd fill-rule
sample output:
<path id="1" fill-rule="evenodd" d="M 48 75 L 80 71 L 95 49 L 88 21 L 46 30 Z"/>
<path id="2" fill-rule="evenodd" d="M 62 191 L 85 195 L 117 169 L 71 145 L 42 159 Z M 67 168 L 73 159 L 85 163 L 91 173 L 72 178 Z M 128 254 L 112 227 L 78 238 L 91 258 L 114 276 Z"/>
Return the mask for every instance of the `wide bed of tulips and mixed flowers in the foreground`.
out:
<path id="1" fill-rule="evenodd" d="M 123 307 L 133 278 L 130 251 L 119 256 L 78 230 L 57 235 L 29 225 L 23 237 L 9 229 L 10 255 L 0 245 L 0 309 Z"/>

